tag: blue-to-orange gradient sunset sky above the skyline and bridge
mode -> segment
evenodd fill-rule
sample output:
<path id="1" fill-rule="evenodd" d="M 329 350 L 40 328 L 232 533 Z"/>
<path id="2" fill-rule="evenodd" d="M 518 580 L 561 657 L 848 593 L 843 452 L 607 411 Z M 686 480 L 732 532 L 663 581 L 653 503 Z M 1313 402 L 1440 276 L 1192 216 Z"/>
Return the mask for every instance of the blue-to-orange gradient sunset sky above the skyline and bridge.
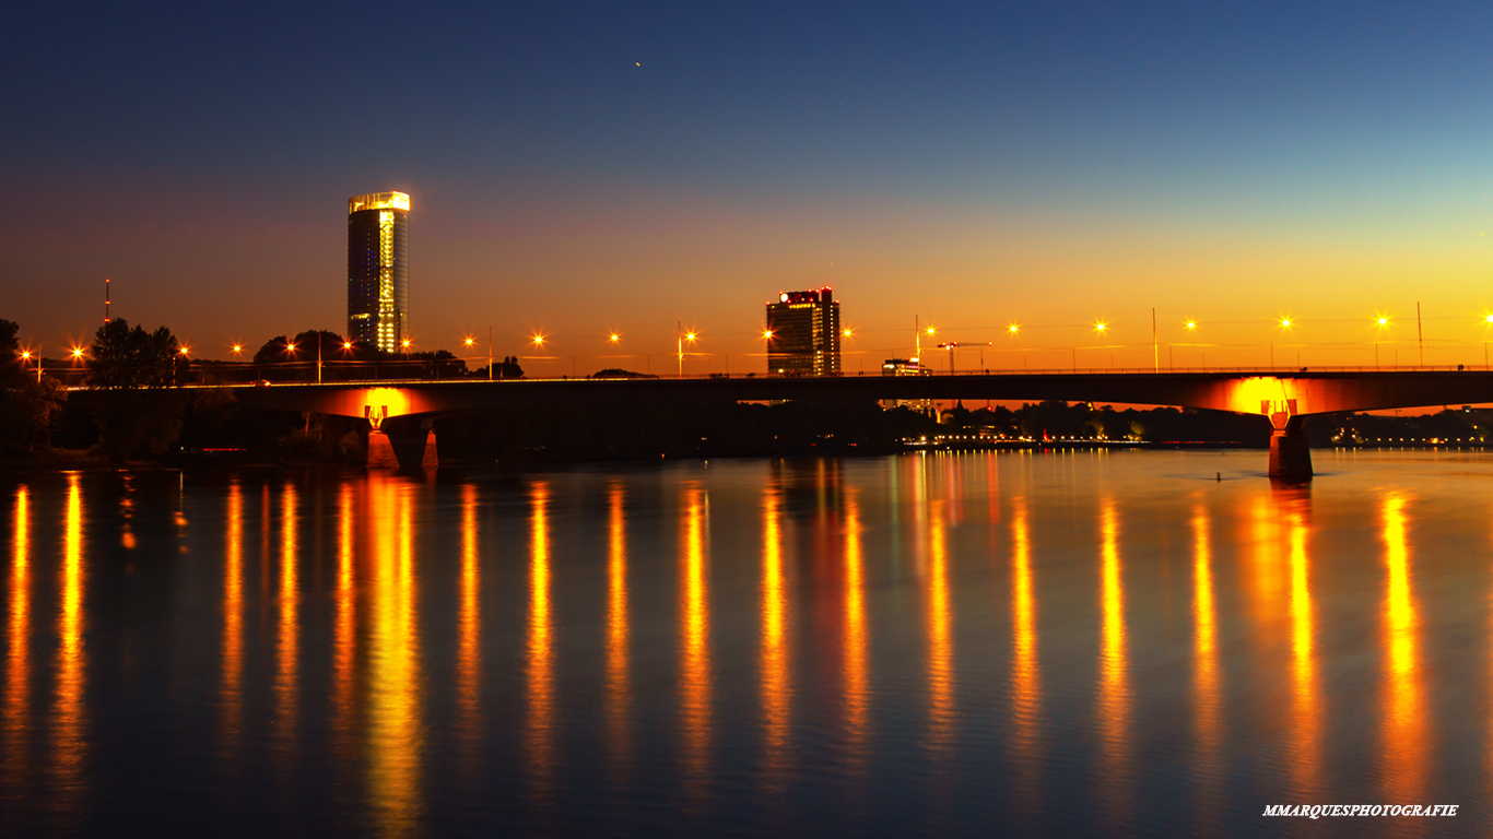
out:
<path id="1" fill-rule="evenodd" d="M 1414 363 L 1417 302 L 1426 363 L 1483 364 L 1493 7 L 1302 6 L 25 4 L 0 316 L 61 354 L 107 276 L 199 355 L 340 333 L 346 199 L 399 190 L 420 348 L 540 373 L 669 370 L 681 321 L 757 370 L 824 284 L 847 370 L 915 315 L 1150 366 L 1153 308 L 1163 366 Z"/>

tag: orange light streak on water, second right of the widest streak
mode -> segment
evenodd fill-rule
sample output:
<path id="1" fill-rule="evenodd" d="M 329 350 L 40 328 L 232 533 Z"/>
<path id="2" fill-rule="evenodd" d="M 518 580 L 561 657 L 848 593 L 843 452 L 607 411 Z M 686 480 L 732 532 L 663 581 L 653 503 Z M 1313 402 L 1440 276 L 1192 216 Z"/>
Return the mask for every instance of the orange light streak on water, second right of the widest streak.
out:
<path id="1" fill-rule="evenodd" d="M 552 772 L 554 661 L 549 626 L 549 485 L 530 490 L 529 555 L 529 764 L 537 797 L 549 794 Z"/>

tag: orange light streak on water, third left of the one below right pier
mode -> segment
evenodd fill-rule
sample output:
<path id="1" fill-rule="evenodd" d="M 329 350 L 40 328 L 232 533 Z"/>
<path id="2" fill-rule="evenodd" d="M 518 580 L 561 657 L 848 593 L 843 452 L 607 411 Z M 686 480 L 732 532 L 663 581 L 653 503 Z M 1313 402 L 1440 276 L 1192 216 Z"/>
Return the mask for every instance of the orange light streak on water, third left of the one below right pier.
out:
<path id="1" fill-rule="evenodd" d="M 1024 499 L 1015 499 L 1011 512 L 1011 703 L 1020 794 L 1026 803 L 1032 803 L 1041 772 L 1038 733 L 1042 720 L 1042 667 L 1038 660 L 1036 596 L 1032 588 L 1032 543 Z"/>

